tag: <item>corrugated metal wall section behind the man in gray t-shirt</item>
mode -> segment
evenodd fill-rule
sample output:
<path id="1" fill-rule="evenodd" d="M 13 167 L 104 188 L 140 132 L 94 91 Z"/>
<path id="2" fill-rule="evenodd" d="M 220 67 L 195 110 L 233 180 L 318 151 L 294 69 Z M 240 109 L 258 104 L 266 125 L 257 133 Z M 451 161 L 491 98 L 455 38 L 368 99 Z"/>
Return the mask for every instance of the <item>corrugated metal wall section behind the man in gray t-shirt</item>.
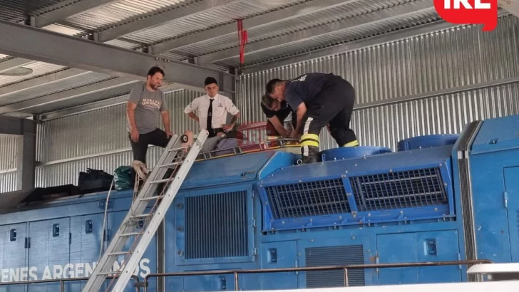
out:
<path id="1" fill-rule="evenodd" d="M 198 126 L 183 112 L 191 100 L 203 93 L 178 90 L 166 94 L 170 111 L 171 130 L 182 134 L 185 129 L 195 132 Z M 160 122 L 162 127 L 162 122 Z M 125 104 L 92 110 L 38 125 L 37 157 L 41 166 L 36 170 L 37 187 L 77 184 L 79 172 L 87 168 L 112 173 L 133 160 L 126 132 Z M 158 147 L 148 151 L 150 167 L 160 156 Z"/>

